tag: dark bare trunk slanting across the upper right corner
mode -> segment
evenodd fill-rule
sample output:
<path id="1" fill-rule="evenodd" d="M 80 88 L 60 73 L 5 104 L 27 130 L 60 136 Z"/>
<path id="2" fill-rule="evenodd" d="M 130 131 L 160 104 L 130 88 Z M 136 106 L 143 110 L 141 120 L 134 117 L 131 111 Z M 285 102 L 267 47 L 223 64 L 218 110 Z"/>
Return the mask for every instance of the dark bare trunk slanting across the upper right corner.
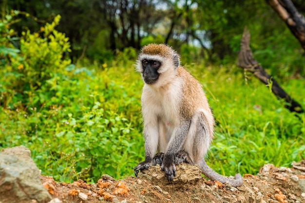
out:
<path id="1" fill-rule="evenodd" d="M 305 50 L 305 18 L 298 12 L 291 0 L 266 0 L 275 12 L 285 21 L 291 33 Z"/>

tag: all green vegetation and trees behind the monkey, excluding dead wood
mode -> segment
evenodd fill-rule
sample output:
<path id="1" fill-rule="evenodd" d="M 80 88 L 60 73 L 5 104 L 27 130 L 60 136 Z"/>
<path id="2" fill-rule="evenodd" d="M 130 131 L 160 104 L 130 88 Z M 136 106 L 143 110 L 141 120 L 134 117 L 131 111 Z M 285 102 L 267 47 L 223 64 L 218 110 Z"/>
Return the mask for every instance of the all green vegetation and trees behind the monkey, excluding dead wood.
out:
<path id="1" fill-rule="evenodd" d="M 144 160 L 133 64 L 148 43 L 171 45 L 203 84 L 217 172 L 305 158 L 304 113 L 235 65 L 247 26 L 255 59 L 305 106 L 304 50 L 264 0 L 1 0 L 0 12 L 0 148 L 30 148 L 44 175 L 133 174 Z"/>

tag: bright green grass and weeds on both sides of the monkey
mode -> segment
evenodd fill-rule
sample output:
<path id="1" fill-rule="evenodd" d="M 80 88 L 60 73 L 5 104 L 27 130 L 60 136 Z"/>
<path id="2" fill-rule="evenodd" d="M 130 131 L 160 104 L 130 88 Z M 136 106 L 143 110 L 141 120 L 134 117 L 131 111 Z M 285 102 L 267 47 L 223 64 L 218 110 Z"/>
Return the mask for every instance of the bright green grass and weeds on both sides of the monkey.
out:
<path id="1" fill-rule="evenodd" d="M 22 106 L 13 99 L 10 108 L 0 107 L 0 148 L 30 148 L 42 174 L 57 181 L 95 182 L 104 173 L 116 179 L 133 175 L 145 152 L 143 82 L 132 63 L 108 64 L 104 71 L 98 64 L 69 70 L 53 78 L 56 94 L 44 106 Z M 304 114 L 298 119 L 264 84 L 251 75 L 246 80 L 235 66 L 187 68 L 203 84 L 216 118 L 215 139 L 206 157 L 214 170 L 255 174 L 266 163 L 289 166 L 305 158 Z M 305 107 L 304 79 L 290 79 L 282 86 Z M 32 92 L 29 100 L 44 98 L 41 94 Z"/>

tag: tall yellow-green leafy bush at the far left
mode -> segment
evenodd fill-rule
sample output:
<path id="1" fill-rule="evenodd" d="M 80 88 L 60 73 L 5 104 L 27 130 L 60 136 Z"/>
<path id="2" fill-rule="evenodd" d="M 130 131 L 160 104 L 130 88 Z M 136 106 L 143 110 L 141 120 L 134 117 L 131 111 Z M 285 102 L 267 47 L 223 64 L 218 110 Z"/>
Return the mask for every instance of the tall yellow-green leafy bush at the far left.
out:
<path id="1" fill-rule="evenodd" d="M 57 16 L 51 24 L 46 23 L 40 28 L 43 37 L 38 33 L 23 32 L 20 50 L 5 47 L 0 49 L 3 56 L 7 53 L 12 56 L 7 59 L 10 63 L 1 72 L 6 77 L 1 91 L 6 95 L 5 106 L 15 108 L 13 103 L 21 101 L 22 104 L 29 102 L 38 107 L 54 96 L 55 92 L 50 86 L 56 83 L 58 74 L 63 73 L 61 70 L 71 63 L 70 59 L 63 58 L 65 52 L 71 51 L 68 38 L 55 30 L 59 20 L 60 16 Z M 33 99 L 36 94 L 41 97 Z"/>

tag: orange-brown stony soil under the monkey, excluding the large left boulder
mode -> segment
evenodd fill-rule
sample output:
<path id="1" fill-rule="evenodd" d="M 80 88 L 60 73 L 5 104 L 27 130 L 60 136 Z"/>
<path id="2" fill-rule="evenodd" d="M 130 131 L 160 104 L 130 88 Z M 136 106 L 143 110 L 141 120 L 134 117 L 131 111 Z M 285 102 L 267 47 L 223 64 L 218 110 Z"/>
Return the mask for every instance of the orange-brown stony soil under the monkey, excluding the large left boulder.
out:
<path id="1" fill-rule="evenodd" d="M 137 178 L 114 180 L 103 175 L 96 184 L 82 180 L 67 184 L 41 176 L 41 183 L 53 203 L 305 203 L 305 160 L 291 168 L 267 164 L 259 174 L 243 179 L 243 185 L 235 188 L 206 180 L 198 167 L 181 164 L 172 183 L 158 165 Z"/>

